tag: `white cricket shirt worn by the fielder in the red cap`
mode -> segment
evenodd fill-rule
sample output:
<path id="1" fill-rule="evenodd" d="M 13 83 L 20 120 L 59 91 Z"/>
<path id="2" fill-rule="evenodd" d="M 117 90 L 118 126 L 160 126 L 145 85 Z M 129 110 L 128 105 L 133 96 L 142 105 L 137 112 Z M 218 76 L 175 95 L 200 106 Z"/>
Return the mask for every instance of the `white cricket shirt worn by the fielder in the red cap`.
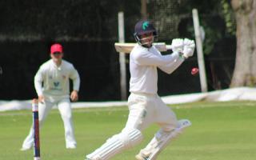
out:
<path id="1" fill-rule="evenodd" d="M 79 90 L 80 78 L 74 66 L 63 59 L 61 66 L 56 66 L 50 59 L 40 66 L 34 77 L 35 90 L 38 96 L 44 95 L 50 102 L 56 98 L 69 98 L 70 79 L 73 81 L 73 90 Z"/>

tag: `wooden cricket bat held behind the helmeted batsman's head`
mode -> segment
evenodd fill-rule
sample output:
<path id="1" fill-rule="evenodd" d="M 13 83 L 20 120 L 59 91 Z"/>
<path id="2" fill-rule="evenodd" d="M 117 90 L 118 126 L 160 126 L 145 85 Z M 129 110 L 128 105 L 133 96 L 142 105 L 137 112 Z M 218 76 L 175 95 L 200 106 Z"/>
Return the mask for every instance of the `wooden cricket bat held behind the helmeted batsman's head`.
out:
<path id="1" fill-rule="evenodd" d="M 134 46 L 137 43 L 122 43 L 122 42 L 116 42 L 114 43 L 115 50 L 117 52 L 122 52 L 126 54 L 130 54 L 130 51 L 133 50 Z M 172 46 L 171 45 L 166 45 L 165 42 L 154 42 L 153 45 L 160 51 L 160 52 L 165 52 L 167 50 L 171 50 Z"/>

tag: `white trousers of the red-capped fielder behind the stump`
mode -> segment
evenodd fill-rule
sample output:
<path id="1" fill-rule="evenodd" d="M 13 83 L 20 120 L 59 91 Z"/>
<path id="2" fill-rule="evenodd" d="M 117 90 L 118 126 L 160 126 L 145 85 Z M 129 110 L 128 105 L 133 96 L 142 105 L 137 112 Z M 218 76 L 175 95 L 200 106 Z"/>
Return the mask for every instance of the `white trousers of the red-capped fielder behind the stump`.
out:
<path id="1" fill-rule="evenodd" d="M 70 146 L 76 146 L 77 142 L 74 138 L 74 126 L 72 121 L 72 110 L 70 105 L 70 99 L 65 98 L 58 102 L 45 102 L 38 104 L 38 116 L 39 116 L 39 126 L 42 127 L 43 122 L 46 120 L 47 115 L 49 114 L 50 110 L 53 108 L 54 105 L 58 106 L 58 110 L 62 116 L 62 121 L 64 123 L 65 129 L 65 138 L 66 138 L 66 148 Z M 33 126 L 30 128 L 30 133 L 27 135 L 26 139 L 24 140 L 22 147 L 23 148 L 30 148 L 33 146 L 34 143 L 34 129 Z"/>

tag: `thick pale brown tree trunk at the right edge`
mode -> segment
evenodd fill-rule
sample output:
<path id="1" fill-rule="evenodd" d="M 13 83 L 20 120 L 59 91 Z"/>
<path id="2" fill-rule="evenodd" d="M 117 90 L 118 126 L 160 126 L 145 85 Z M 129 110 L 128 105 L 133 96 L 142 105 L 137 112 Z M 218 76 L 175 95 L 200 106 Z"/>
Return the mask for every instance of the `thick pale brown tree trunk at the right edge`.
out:
<path id="1" fill-rule="evenodd" d="M 237 23 L 237 53 L 230 87 L 256 84 L 256 0 L 232 0 Z"/>

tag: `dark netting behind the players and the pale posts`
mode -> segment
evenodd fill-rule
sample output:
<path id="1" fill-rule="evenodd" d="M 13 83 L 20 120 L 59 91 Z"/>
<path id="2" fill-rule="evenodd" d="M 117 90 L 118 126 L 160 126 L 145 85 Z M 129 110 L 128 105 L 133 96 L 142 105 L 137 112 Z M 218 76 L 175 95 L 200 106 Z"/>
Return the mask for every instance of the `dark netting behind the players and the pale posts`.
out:
<path id="1" fill-rule="evenodd" d="M 34 74 L 49 59 L 53 42 L 64 47 L 65 59 L 78 69 L 82 101 L 120 99 L 118 53 L 118 12 L 125 16 L 126 42 L 134 42 L 134 25 L 141 18 L 138 0 L 46 0 L 0 2 L 0 99 L 36 97 Z M 194 3 L 192 3 L 194 2 Z M 148 18 L 158 30 L 158 42 L 193 38 L 193 7 L 198 8 L 204 41 L 209 90 L 225 89 L 234 70 L 235 38 L 226 34 L 222 15 L 212 10 L 214 1 L 148 0 Z M 217 13 L 217 14 L 216 14 Z M 171 52 L 171 50 L 170 50 Z M 163 54 L 169 54 L 166 52 Z M 200 92 L 197 53 L 173 74 L 158 72 L 160 95 Z M 129 54 L 126 55 L 127 94 Z"/>

